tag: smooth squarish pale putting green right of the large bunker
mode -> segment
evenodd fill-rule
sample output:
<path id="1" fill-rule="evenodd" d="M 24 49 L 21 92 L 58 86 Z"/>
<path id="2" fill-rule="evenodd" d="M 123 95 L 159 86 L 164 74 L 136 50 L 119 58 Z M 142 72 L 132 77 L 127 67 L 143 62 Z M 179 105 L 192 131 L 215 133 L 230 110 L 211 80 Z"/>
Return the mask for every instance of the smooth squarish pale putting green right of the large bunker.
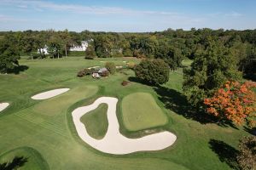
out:
<path id="1" fill-rule="evenodd" d="M 147 93 L 125 96 L 122 100 L 122 117 L 125 127 L 130 131 L 158 127 L 168 122 L 153 96 Z"/>

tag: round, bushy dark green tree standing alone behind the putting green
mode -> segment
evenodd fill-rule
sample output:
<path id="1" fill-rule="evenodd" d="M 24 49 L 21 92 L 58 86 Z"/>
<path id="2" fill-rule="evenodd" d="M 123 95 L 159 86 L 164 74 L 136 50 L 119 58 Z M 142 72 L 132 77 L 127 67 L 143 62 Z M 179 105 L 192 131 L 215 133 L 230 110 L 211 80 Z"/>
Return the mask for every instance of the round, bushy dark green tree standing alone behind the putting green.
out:
<path id="1" fill-rule="evenodd" d="M 163 84 L 169 80 L 170 68 L 163 59 L 144 59 L 134 68 L 136 77 L 152 84 Z"/>

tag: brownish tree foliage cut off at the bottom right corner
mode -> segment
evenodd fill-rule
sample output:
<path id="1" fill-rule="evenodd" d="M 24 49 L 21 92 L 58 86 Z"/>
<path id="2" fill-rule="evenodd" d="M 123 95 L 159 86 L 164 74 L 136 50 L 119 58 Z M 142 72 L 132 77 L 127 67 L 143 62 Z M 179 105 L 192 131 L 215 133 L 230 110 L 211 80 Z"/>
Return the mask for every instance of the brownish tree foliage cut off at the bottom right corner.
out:
<path id="1" fill-rule="evenodd" d="M 245 137 L 239 144 L 240 155 L 237 160 L 242 170 L 256 169 L 256 137 Z"/>

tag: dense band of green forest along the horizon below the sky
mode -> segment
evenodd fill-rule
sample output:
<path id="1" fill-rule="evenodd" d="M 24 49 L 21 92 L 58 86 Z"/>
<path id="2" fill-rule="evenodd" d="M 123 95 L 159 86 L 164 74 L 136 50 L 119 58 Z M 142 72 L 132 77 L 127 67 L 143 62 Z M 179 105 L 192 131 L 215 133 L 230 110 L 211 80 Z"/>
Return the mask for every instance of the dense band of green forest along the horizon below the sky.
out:
<path id="1" fill-rule="evenodd" d="M 61 57 L 75 55 L 68 50 L 73 45 L 79 45 L 81 41 L 90 42 L 86 52 L 82 53 L 84 56 L 87 55 L 87 58 L 165 59 L 171 69 L 176 70 L 181 66 L 183 59 L 207 59 L 203 56 L 215 50 L 218 55 L 226 59 L 224 64 L 233 65 L 246 75 L 251 76 L 256 70 L 254 66 L 256 30 L 224 31 L 223 29 L 192 28 L 190 31 L 168 29 L 146 33 L 67 30 L 2 31 L 0 32 L 0 52 L 6 55 L 29 55 L 32 59 L 45 58 L 47 56 L 37 54 L 37 51 L 38 48 L 44 48 L 47 45 L 50 57 Z"/>

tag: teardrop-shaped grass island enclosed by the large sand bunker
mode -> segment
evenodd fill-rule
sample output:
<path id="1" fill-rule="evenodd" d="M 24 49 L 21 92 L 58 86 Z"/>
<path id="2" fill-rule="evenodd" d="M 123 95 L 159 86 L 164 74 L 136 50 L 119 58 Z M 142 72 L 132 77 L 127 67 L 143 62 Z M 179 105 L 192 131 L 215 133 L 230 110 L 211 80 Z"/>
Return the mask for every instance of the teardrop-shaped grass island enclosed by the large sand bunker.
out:
<path id="1" fill-rule="evenodd" d="M 94 139 L 103 139 L 108 131 L 108 105 L 101 104 L 96 110 L 90 111 L 81 117 L 87 133 Z"/>

